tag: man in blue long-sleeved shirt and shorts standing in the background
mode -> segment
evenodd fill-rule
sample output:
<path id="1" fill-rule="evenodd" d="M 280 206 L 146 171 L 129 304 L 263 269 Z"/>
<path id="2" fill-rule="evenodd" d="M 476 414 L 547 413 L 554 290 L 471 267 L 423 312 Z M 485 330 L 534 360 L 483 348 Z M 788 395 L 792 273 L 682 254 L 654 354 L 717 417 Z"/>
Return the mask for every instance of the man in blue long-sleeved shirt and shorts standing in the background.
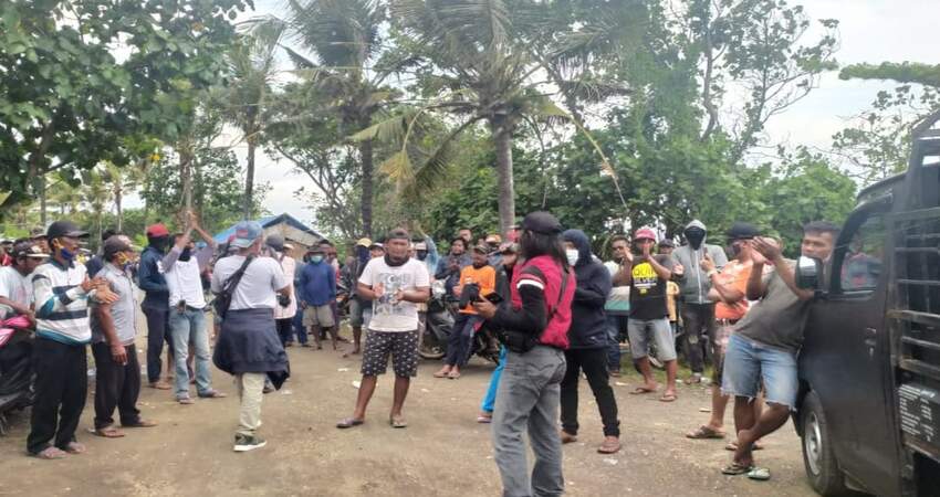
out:
<path id="1" fill-rule="evenodd" d="M 310 261 L 301 273 L 297 295 L 303 309 L 303 324 L 313 336 L 316 349 L 323 349 L 321 331 L 328 330 L 333 350 L 336 350 L 336 322 L 332 308 L 336 302 L 336 275 L 321 246 L 311 248 Z"/>

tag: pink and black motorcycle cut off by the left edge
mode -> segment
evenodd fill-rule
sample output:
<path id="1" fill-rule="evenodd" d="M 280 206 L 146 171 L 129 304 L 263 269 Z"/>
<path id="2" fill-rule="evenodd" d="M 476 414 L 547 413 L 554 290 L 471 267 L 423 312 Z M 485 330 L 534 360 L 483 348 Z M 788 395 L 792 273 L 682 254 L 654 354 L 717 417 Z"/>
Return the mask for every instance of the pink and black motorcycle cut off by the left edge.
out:
<path id="1" fill-rule="evenodd" d="M 8 415 L 32 405 L 35 373 L 32 367 L 33 338 L 23 317 L 0 320 L 0 435 L 6 435 Z"/>

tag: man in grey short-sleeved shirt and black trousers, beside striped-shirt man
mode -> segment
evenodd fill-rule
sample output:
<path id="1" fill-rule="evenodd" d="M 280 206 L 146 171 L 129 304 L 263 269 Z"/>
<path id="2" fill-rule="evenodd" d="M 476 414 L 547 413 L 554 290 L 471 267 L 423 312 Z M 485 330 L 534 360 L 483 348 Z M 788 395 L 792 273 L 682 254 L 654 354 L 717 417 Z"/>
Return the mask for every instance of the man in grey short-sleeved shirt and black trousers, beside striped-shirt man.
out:
<path id="1" fill-rule="evenodd" d="M 112 304 L 92 306 L 92 353 L 95 357 L 95 434 L 106 438 L 124 436 L 114 427 L 117 409 L 124 427 L 152 427 L 157 423 L 140 419 L 140 364 L 137 362 L 137 299 L 127 276 L 135 258 L 130 239 L 113 235 L 104 242 L 98 275 L 117 296 Z"/>

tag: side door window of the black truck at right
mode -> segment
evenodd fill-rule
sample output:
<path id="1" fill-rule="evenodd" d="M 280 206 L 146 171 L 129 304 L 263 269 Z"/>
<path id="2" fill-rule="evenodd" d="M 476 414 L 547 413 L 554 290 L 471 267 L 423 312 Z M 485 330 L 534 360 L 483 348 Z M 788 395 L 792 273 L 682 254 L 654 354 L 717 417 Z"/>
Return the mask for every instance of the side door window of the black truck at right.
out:
<path id="1" fill-rule="evenodd" d="M 842 262 L 842 292 L 874 292 L 885 267 L 885 218 L 873 214 L 852 235 L 847 245 L 836 248 L 835 261 Z"/>

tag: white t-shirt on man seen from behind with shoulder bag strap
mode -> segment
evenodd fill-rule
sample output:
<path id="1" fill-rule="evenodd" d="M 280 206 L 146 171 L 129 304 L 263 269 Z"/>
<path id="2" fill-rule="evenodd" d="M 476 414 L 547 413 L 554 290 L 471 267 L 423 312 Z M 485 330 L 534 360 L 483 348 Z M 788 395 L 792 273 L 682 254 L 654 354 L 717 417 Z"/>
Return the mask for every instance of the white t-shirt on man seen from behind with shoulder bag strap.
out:
<path id="1" fill-rule="evenodd" d="M 229 255 L 219 260 L 216 263 L 215 271 L 212 271 L 212 292 L 221 292 L 224 282 L 243 263 L 243 255 Z M 278 306 L 275 293 L 288 286 L 288 283 L 278 261 L 271 257 L 254 257 L 232 293 L 232 303 L 229 309 L 257 309 L 262 307 L 273 309 Z"/>

